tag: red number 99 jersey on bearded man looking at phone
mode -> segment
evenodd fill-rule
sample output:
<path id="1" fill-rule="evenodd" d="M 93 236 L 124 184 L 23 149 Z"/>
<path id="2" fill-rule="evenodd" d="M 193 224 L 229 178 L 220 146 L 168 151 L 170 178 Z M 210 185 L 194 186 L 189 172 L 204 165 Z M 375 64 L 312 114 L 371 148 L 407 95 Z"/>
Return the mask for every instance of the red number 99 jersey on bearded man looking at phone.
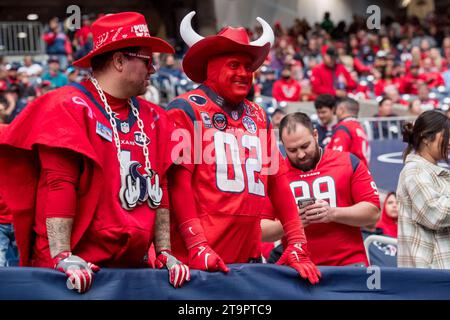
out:
<path id="1" fill-rule="evenodd" d="M 349 207 L 367 201 L 378 208 L 377 187 L 369 170 L 348 152 L 325 150 L 316 168 L 303 172 L 288 158 L 288 180 L 296 201 L 315 197 L 330 207 Z M 341 223 L 310 224 L 305 228 L 311 260 L 317 265 L 367 264 L 361 230 Z"/>

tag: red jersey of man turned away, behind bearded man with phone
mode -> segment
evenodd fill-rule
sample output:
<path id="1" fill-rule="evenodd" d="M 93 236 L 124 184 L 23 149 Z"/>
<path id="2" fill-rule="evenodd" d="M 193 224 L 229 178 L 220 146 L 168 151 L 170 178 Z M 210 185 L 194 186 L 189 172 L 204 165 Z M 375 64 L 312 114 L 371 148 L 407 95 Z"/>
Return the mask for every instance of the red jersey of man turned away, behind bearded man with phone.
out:
<path id="1" fill-rule="evenodd" d="M 357 156 L 366 166 L 370 162 L 370 144 L 364 128 L 356 118 L 341 120 L 335 127 L 328 149 L 347 151 Z"/>

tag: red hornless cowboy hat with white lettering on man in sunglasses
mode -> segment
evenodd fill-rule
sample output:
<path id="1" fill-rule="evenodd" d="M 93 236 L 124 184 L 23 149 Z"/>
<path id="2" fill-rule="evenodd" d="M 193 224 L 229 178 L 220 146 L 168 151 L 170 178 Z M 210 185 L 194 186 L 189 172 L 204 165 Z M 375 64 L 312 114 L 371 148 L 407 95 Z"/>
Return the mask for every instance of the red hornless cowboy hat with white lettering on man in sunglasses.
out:
<path id="1" fill-rule="evenodd" d="M 145 17 L 137 12 L 121 12 L 98 18 L 91 26 L 94 48 L 74 66 L 89 68 L 92 57 L 127 47 L 150 47 L 153 52 L 174 53 L 164 40 L 150 36 Z"/>

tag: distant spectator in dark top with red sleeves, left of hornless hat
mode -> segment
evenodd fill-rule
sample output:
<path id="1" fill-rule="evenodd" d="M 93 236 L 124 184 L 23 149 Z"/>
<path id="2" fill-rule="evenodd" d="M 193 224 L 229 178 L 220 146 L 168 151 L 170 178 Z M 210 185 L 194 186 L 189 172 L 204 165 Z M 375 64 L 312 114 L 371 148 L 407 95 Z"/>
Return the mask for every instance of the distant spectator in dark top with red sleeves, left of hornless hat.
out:
<path id="1" fill-rule="evenodd" d="M 63 70 L 72 62 L 72 44 L 69 37 L 61 30 L 59 19 L 52 18 L 49 21 L 49 31 L 44 34 L 47 45 L 46 53 L 57 57 Z"/>

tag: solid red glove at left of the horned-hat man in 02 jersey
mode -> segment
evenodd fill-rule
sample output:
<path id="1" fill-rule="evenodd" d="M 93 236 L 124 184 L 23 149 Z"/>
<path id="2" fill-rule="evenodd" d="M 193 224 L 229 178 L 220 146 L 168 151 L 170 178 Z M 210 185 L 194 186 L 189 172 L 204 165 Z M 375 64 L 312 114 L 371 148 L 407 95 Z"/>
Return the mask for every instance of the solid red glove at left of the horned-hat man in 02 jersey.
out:
<path id="1" fill-rule="evenodd" d="M 222 258 L 206 242 L 189 249 L 189 265 L 192 269 L 204 271 L 230 271 Z"/>

